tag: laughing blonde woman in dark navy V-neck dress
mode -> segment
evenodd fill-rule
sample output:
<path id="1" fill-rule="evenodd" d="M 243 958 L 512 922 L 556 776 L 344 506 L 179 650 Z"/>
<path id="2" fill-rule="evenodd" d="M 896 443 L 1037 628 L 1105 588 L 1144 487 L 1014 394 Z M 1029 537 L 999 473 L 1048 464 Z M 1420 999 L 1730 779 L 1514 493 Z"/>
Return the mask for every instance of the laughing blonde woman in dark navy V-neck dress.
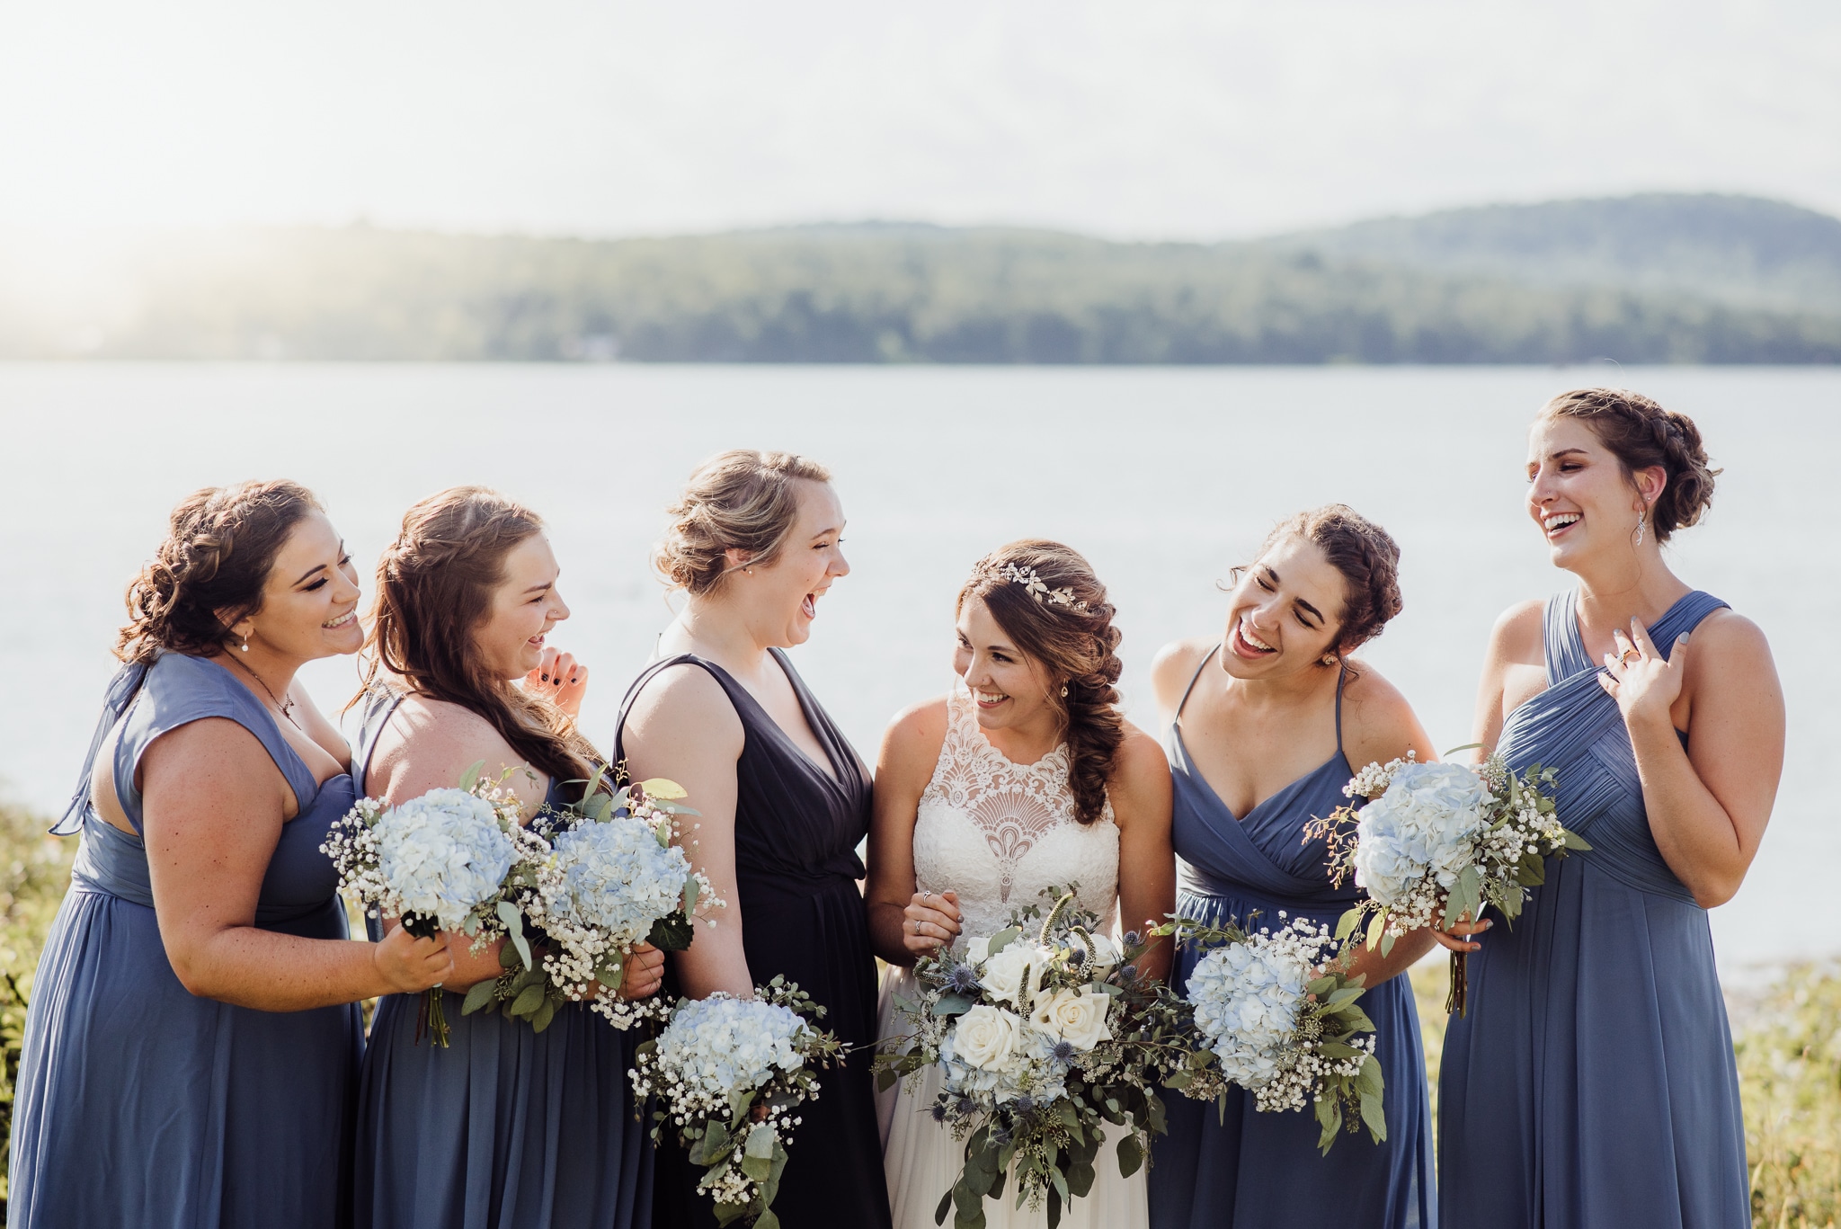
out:
<path id="1" fill-rule="evenodd" d="M 690 997 L 751 995 L 781 973 L 827 1008 L 847 1047 L 876 1039 L 876 960 L 863 862 L 869 770 L 782 649 L 812 634 L 817 601 L 851 566 L 830 474 L 793 453 L 733 450 L 670 507 L 657 562 L 689 601 L 620 711 L 615 759 L 681 783 L 701 811 L 692 860 L 727 901 L 674 960 Z M 869 1054 L 821 1076 L 801 1107 L 773 1212 L 788 1229 L 889 1223 Z M 714 1225 L 701 1176 L 659 1152 L 654 1223 Z"/>

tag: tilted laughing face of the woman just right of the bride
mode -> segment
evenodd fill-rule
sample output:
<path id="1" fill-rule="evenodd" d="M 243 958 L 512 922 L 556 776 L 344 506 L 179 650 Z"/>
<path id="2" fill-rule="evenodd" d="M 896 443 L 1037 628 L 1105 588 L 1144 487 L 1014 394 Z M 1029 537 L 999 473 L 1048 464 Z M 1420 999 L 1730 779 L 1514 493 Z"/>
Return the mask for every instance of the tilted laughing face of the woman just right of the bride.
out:
<path id="1" fill-rule="evenodd" d="M 1348 582 L 1316 544 L 1285 534 L 1233 586 L 1221 667 L 1235 678 L 1274 678 L 1320 665 L 1342 630 L 1346 595 Z"/>

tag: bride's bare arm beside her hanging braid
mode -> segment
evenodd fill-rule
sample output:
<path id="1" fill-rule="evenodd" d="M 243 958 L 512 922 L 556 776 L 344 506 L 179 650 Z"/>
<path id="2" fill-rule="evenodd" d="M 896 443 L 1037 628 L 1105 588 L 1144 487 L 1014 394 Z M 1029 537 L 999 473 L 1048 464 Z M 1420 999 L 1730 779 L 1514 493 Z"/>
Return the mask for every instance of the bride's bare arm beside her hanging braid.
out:
<path id="1" fill-rule="evenodd" d="M 1176 851 L 1169 842 L 1171 783 L 1164 748 L 1138 726 L 1125 724 L 1125 744 L 1108 785 L 1119 825 L 1119 925 L 1149 931 L 1176 912 Z M 1169 977 L 1171 943 L 1154 940 L 1138 971 Z"/>

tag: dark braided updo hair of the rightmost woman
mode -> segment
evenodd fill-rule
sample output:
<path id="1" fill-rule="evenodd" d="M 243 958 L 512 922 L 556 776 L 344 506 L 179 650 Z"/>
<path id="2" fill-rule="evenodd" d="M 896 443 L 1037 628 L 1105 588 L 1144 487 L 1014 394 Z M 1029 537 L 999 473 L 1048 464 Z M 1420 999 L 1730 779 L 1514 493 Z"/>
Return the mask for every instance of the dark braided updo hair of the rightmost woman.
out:
<path id="1" fill-rule="evenodd" d="M 1543 418 L 1578 418 L 1592 429 L 1635 486 L 1637 470 L 1662 466 L 1662 494 L 1650 507 L 1657 542 L 1694 525 L 1714 503 L 1714 477 L 1701 431 L 1686 415 L 1662 409 L 1629 389 L 1574 389 L 1541 407 Z"/>

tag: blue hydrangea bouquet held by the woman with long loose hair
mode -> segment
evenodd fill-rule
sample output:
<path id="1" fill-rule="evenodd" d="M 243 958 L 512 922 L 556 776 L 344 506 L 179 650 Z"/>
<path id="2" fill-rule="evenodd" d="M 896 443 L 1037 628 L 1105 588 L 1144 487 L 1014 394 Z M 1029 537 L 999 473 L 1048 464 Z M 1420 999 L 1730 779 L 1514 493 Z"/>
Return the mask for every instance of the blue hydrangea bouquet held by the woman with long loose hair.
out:
<path id="1" fill-rule="evenodd" d="M 515 907 L 539 943 L 538 962 L 523 947 L 501 949 L 504 971 L 468 991 L 462 1015 L 499 1004 L 506 1019 L 543 1032 L 558 1008 L 584 999 L 615 1028 L 666 1013 L 655 999 L 619 997 L 626 953 L 641 942 L 661 951 L 690 947 L 698 901 L 705 908 L 722 901 L 672 844 L 677 816 L 696 814 L 672 802 L 685 790 L 659 778 L 609 794 L 602 779 L 596 772 L 582 802 L 547 809 L 532 824 L 545 840 L 541 851 L 532 849 Z"/>

